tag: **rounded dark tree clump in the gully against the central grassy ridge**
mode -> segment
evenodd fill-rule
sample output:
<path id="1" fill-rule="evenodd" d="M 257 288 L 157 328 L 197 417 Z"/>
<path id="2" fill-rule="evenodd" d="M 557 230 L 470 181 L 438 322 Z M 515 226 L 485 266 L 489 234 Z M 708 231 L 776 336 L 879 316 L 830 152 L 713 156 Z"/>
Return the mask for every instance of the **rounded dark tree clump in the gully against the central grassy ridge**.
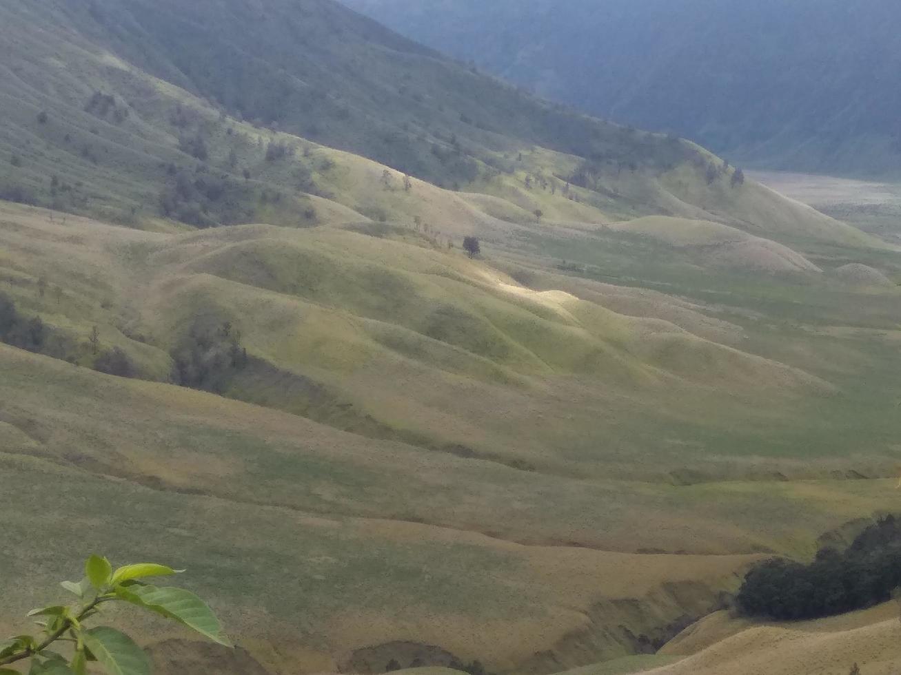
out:
<path id="1" fill-rule="evenodd" d="M 183 387 L 221 393 L 250 358 L 241 346 L 241 333 L 224 323 L 214 327 L 196 325 L 172 355 L 172 380 Z"/>

